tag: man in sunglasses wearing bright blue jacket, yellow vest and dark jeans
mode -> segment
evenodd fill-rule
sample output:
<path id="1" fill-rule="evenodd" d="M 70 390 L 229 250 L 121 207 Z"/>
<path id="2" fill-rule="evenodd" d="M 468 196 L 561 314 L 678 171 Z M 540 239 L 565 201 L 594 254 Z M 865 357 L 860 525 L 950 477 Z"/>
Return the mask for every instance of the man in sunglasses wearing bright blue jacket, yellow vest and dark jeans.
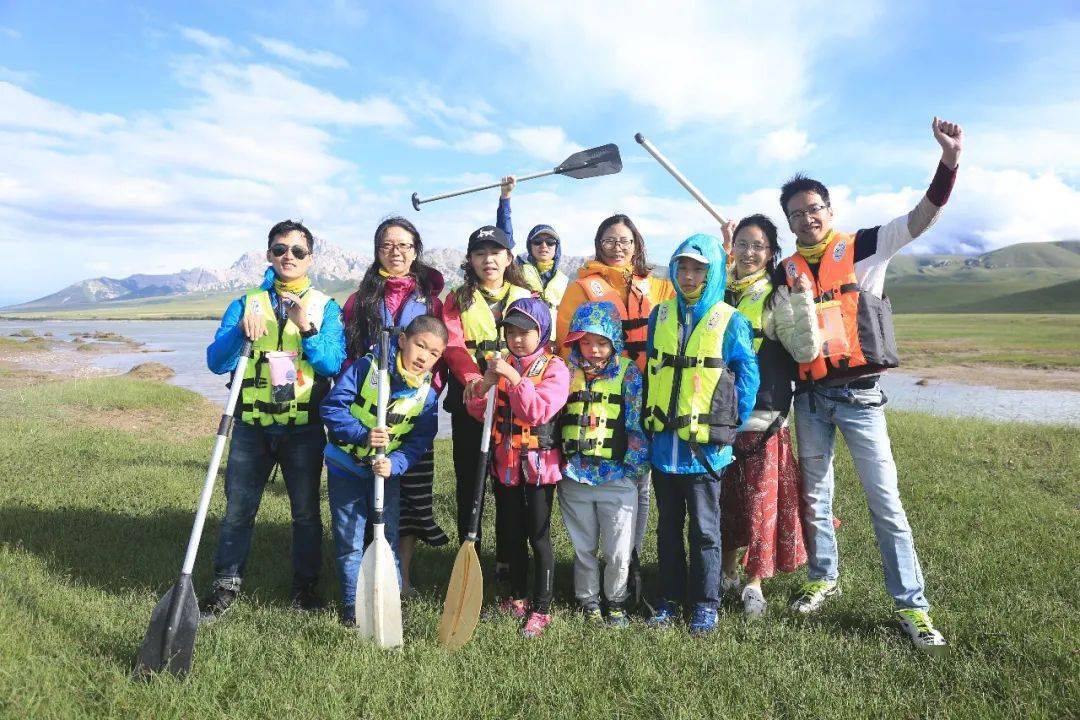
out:
<path id="1" fill-rule="evenodd" d="M 215 580 L 200 603 L 205 619 L 225 612 L 240 592 L 255 514 L 274 465 L 281 467 L 293 514 L 293 606 L 323 607 L 315 593 L 323 536 L 319 486 L 326 445 L 319 403 L 345 361 L 341 310 L 311 287 L 310 230 L 284 220 L 270 229 L 268 246 L 271 267 L 262 284 L 229 305 L 206 349 L 211 371 L 221 375 L 237 367 L 244 339 L 253 342 L 229 445 Z"/>

